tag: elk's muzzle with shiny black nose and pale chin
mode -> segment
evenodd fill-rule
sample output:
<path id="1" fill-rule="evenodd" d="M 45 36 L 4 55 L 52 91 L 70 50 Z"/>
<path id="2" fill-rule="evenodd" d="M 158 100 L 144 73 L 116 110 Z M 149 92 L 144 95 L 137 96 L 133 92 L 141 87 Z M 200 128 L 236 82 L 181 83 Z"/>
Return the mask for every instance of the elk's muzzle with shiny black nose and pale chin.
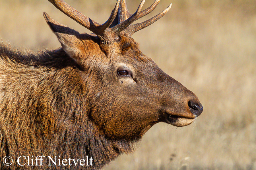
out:
<path id="1" fill-rule="evenodd" d="M 203 106 L 197 96 L 181 83 L 168 75 L 165 78 L 161 121 L 173 126 L 191 124 L 203 112 Z"/>

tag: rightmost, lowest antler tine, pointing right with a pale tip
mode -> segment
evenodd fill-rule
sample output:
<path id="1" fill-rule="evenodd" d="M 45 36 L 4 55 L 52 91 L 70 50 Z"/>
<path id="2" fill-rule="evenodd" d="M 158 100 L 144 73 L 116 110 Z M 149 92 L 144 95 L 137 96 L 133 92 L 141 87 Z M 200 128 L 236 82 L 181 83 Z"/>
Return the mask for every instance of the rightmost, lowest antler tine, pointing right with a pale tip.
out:
<path id="1" fill-rule="evenodd" d="M 166 12 L 168 12 L 171 8 L 172 4 L 170 4 L 165 10 L 163 10 L 160 14 L 150 18 L 149 20 L 146 20 L 144 22 L 138 23 L 138 24 L 133 24 L 128 26 L 123 33 L 128 35 L 129 37 L 131 37 L 135 32 L 153 24 L 154 22 L 156 22 L 157 20 L 159 20 L 160 18 L 162 18 L 162 16 L 164 16 L 166 14 Z"/>

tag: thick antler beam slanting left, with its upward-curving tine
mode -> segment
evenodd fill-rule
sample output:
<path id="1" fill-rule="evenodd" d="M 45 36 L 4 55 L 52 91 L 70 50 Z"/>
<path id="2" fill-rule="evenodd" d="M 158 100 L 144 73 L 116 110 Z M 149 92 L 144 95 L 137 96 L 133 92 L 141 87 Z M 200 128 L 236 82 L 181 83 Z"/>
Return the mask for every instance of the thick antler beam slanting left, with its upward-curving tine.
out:
<path id="1" fill-rule="evenodd" d="M 112 24 L 113 20 L 115 19 L 115 16 L 117 15 L 120 0 L 117 0 L 117 3 L 112 14 L 108 18 L 108 20 L 102 25 L 83 15 L 81 12 L 77 11 L 63 0 L 48 1 L 50 1 L 61 12 L 63 12 L 64 14 L 66 14 L 82 26 L 86 27 L 93 33 L 95 33 L 102 42 L 109 43 L 110 41 L 117 39 L 116 37 L 112 36 L 112 33 L 107 28 Z"/>

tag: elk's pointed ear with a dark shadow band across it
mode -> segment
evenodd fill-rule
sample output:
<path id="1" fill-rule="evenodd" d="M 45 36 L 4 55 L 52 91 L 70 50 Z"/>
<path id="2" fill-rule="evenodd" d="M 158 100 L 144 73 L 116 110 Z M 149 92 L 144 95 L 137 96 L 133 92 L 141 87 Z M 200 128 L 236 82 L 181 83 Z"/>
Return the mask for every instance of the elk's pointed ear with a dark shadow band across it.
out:
<path id="1" fill-rule="evenodd" d="M 65 50 L 71 58 L 77 61 L 79 58 L 79 49 L 81 49 L 80 47 L 83 45 L 83 42 L 80 39 L 80 33 L 55 21 L 46 12 L 44 12 L 43 15 L 47 24 L 57 36 L 63 50 Z"/>

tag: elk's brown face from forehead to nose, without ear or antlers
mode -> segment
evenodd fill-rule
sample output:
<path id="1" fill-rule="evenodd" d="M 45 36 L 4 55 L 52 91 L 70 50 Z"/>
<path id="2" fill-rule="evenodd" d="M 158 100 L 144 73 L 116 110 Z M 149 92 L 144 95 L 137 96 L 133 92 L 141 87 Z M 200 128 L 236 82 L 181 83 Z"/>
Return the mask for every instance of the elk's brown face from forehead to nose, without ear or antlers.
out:
<path id="1" fill-rule="evenodd" d="M 108 61 L 91 65 L 101 86 L 90 87 L 97 94 L 90 118 L 105 135 L 139 139 L 157 122 L 186 126 L 202 113 L 197 96 L 142 54 L 133 39 L 121 36 L 108 48 Z"/>

